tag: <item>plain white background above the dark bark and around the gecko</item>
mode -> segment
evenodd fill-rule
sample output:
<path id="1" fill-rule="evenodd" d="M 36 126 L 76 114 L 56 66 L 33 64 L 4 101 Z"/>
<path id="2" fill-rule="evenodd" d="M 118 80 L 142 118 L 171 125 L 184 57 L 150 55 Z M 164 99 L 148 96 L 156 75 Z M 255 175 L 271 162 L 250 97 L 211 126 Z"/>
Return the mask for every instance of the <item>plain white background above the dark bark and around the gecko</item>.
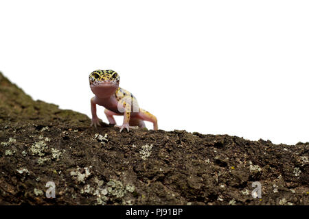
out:
<path id="1" fill-rule="evenodd" d="M 89 73 L 113 69 L 159 129 L 308 142 L 308 12 L 283 0 L 1 0 L 0 70 L 91 116 Z"/>

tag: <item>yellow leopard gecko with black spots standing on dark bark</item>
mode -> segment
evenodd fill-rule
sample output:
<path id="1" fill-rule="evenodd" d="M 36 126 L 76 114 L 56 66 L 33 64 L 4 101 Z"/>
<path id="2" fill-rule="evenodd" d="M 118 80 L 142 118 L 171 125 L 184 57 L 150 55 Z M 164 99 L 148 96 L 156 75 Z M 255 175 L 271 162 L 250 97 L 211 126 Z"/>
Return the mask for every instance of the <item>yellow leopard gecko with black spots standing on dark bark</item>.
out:
<path id="1" fill-rule="evenodd" d="M 97 105 L 104 107 L 104 114 L 111 125 L 115 125 L 122 132 L 123 129 L 137 129 L 146 127 L 144 120 L 153 123 L 153 129 L 158 130 L 157 118 L 150 112 L 139 107 L 133 94 L 119 87 L 120 77 L 114 70 L 94 70 L 89 75 L 91 98 L 91 127 L 100 126 L 97 116 Z M 122 125 L 117 125 L 113 116 L 124 116 Z"/>

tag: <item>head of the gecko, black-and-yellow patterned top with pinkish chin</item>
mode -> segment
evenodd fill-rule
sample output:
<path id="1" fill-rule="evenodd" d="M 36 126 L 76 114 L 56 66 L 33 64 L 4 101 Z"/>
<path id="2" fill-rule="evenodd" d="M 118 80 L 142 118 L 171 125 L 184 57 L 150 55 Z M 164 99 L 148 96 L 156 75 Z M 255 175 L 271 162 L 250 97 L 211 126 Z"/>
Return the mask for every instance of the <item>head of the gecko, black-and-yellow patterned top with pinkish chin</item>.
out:
<path id="1" fill-rule="evenodd" d="M 119 81 L 119 75 L 113 70 L 94 70 L 89 75 L 91 91 L 101 98 L 108 98 L 115 94 Z"/>

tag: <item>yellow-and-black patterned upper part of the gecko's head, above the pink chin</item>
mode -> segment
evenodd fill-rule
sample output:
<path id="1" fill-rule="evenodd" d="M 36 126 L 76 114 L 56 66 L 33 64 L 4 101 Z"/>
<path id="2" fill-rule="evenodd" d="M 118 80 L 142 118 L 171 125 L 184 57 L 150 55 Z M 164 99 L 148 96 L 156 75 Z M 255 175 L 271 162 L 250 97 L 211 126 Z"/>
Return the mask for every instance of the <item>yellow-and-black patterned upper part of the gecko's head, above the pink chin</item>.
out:
<path id="1" fill-rule="evenodd" d="M 92 84 L 95 81 L 96 82 L 109 81 L 109 82 L 119 83 L 120 77 L 113 70 L 94 70 L 89 75 L 89 81 L 90 81 L 90 84 Z"/>

